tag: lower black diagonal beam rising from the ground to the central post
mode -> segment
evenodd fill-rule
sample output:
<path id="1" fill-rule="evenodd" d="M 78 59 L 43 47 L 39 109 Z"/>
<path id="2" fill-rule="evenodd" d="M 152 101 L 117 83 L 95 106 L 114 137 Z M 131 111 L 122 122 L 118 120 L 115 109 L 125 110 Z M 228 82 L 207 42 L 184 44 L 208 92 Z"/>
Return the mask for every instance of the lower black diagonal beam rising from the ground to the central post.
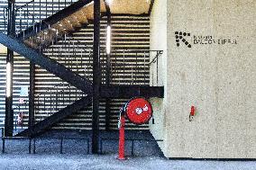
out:
<path id="1" fill-rule="evenodd" d="M 22 132 L 18 133 L 16 137 L 34 137 L 38 134 L 41 134 L 45 130 L 50 129 L 50 127 L 52 127 L 55 123 L 63 120 L 72 113 L 78 112 L 82 108 L 87 107 L 87 105 L 90 103 L 91 96 L 83 97 L 75 103 L 72 103 L 66 108 L 60 110 L 59 112 L 52 114 L 50 117 L 44 119 L 43 121 L 36 123 L 34 126 L 32 126 L 32 128 L 23 130 Z"/>

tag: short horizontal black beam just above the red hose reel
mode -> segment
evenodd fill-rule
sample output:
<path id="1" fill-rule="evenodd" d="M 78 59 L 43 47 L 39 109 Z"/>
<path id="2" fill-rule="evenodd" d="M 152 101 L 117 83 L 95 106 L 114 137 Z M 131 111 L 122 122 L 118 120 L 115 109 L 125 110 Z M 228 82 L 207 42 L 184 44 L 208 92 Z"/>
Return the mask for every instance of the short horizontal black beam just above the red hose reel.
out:
<path id="1" fill-rule="evenodd" d="M 164 96 L 163 86 L 140 85 L 101 85 L 101 98 L 132 98 L 135 96 L 159 97 Z"/>

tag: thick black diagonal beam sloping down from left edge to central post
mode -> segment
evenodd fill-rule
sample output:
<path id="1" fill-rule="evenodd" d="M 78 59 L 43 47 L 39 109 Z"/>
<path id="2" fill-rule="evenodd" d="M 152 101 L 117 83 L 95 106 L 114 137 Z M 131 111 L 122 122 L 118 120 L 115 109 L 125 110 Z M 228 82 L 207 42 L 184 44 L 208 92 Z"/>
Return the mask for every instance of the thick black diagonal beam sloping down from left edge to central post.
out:
<path id="1" fill-rule="evenodd" d="M 70 85 L 74 85 L 86 94 L 92 93 L 92 84 L 89 80 L 72 72 L 69 68 L 59 64 L 54 59 L 48 58 L 37 50 L 27 47 L 20 40 L 11 38 L 0 32 L 0 43 L 9 49 L 13 49 L 24 58 L 30 59 L 34 64 L 41 66 L 55 76 L 59 76 L 59 78 L 68 82 Z"/>

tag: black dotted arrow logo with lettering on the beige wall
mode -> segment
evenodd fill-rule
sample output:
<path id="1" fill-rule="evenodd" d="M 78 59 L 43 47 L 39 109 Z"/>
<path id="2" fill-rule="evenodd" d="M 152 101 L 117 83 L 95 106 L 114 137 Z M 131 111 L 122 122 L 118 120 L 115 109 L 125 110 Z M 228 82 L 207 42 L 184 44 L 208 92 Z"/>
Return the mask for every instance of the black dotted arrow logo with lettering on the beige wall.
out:
<path id="1" fill-rule="evenodd" d="M 238 38 L 238 36 L 236 36 Z M 189 42 L 188 42 L 189 41 Z M 175 31 L 175 42 L 177 47 L 180 44 L 184 44 L 187 48 L 191 48 L 191 44 L 194 45 L 235 45 L 237 40 L 232 37 L 216 37 L 213 35 L 191 35 L 185 31 Z"/>

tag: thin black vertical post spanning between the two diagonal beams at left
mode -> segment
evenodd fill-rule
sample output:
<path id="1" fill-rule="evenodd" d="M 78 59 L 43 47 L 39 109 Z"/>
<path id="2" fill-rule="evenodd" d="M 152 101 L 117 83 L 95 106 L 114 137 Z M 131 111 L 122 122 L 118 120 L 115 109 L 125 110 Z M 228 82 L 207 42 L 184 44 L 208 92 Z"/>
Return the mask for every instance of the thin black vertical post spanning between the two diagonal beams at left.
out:
<path id="1" fill-rule="evenodd" d="M 34 125 L 34 68 L 34 64 L 30 62 L 29 128 Z"/>

